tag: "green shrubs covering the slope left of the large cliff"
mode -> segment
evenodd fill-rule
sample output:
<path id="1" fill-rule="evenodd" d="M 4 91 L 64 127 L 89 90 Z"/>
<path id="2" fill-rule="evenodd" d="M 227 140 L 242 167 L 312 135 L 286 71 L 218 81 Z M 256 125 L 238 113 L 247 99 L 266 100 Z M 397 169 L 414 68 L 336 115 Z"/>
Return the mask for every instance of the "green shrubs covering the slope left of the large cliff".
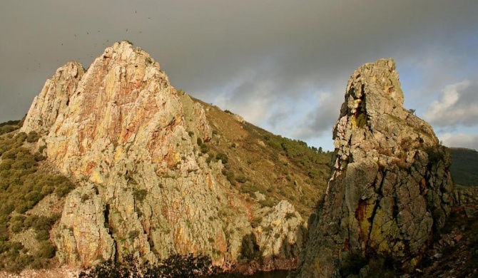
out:
<path id="1" fill-rule="evenodd" d="M 0 128 L 16 122 L 2 123 Z M 39 170 L 44 156 L 25 147 L 25 143 L 38 139 L 36 133 L 8 133 L 0 137 L 0 269 L 10 272 L 49 265 L 55 255 L 49 232 L 60 215 L 34 215 L 29 210 L 46 195 L 63 197 L 73 189 L 67 177 Z M 31 249 L 12 239 L 27 230 L 35 233 L 34 239 L 28 239 L 33 241 Z"/>

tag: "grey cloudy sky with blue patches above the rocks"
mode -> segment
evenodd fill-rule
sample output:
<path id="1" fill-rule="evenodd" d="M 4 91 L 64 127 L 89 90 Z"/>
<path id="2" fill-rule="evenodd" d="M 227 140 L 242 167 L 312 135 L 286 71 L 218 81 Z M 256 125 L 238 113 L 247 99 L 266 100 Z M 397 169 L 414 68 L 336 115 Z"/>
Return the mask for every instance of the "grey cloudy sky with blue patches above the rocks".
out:
<path id="1" fill-rule="evenodd" d="M 394 58 L 405 108 L 478 150 L 477 14 L 477 0 L 4 0 L 0 122 L 56 68 L 128 39 L 176 88 L 324 150 L 355 68 Z"/>

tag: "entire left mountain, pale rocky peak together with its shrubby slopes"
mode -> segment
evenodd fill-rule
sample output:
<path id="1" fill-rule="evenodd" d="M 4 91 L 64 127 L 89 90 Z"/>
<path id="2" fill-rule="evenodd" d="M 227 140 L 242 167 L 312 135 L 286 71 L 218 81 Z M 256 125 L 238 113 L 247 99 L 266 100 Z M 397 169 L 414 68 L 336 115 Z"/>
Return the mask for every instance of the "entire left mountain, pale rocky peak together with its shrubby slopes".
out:
<path id="1" fill-rule="evenodd" d="M 46 81 L 2 124 L 1 268 L 157 262 L 295 267 L 331 153 L 176 90 L 141 48 L 115 43 Z"/>

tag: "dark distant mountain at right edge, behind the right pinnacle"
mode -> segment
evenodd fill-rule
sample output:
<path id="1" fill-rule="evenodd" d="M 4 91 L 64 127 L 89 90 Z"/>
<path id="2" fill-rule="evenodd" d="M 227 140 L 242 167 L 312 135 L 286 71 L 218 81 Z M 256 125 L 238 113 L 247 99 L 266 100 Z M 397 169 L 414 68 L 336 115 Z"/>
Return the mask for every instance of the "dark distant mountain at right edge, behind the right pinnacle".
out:
<path id="1" fill-rule="evenodd" d="M 456 185 L 478 186 L 478 152 L 467 148 L 450 148 L 452 177 Z"/>

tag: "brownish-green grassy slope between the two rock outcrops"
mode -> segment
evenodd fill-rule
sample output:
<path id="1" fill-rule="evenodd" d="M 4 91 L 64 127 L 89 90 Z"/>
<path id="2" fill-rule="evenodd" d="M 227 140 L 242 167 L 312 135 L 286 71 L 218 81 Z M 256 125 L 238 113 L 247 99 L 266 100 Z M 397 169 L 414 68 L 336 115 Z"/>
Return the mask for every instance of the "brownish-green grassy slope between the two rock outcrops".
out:
<path id="1" fill-rule="evenodd" d="M 265 195 L 265 205 L 288 200 L 308 217 L 327 185 L 332 152 L 319 153 L 305 142 L 273 135 L 239 115 L 198 102 L 215 133 L 210 156 L 225 153 L 225 175 L 232 185 L 249 197 L 254 192 Z"/>

